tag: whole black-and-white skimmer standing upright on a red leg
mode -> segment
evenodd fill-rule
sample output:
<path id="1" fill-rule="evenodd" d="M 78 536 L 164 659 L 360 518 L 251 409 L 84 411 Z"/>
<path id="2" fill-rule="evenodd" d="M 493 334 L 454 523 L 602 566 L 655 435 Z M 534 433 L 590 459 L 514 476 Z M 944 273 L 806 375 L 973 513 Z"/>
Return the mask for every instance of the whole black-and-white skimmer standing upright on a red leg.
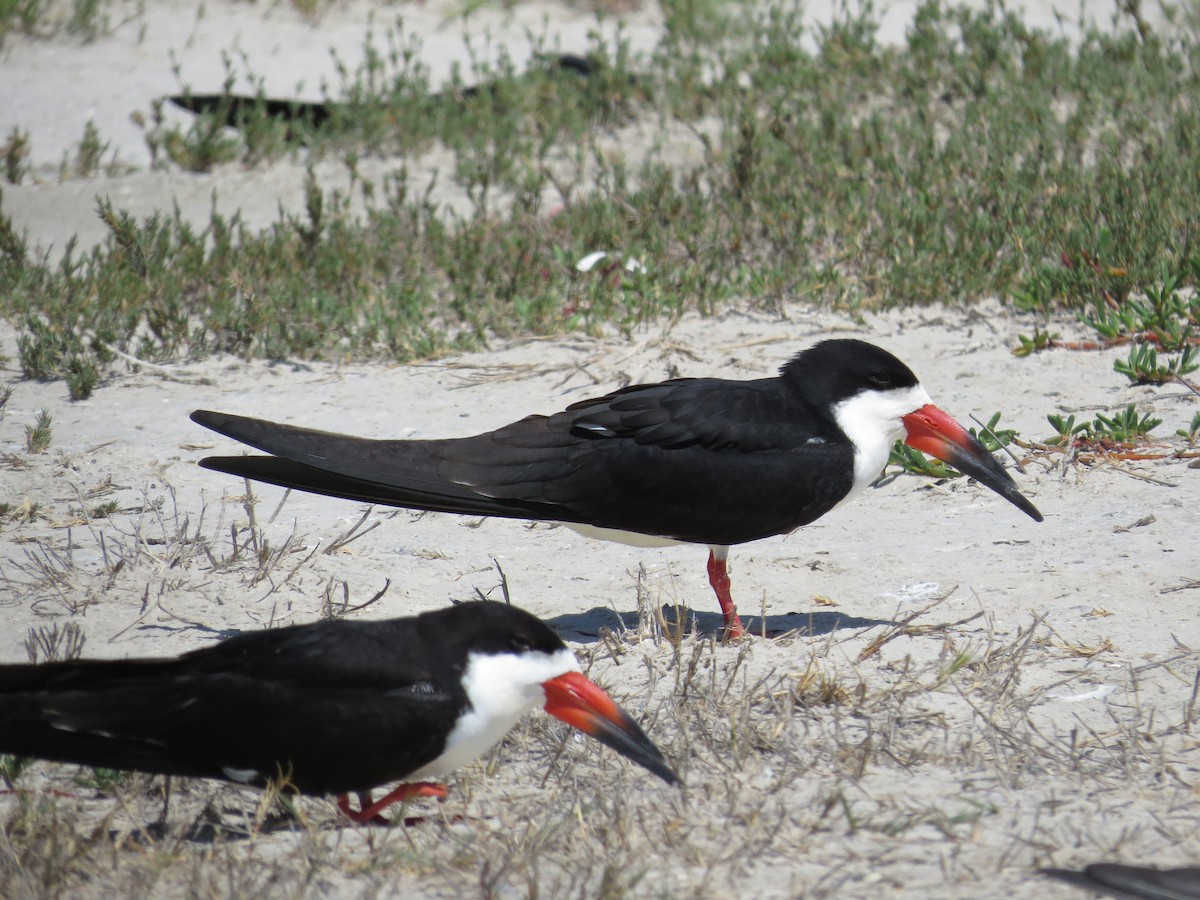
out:
<path id="1" fill-rule="evenodd" d="M 632 544 L 707 544 L 731 636 L 744 629 L 730 546 L 787 534 L 854 497 L 900 438 L 1042 521 L 917 376 L 863 341 L 818 343 L 774 378 L 636 384 L 468 438 L 370 440 L 208 410 L 192 421 L 272 454 L 200 461 L 232 475 L 391 506 L 563 522 Z"/>

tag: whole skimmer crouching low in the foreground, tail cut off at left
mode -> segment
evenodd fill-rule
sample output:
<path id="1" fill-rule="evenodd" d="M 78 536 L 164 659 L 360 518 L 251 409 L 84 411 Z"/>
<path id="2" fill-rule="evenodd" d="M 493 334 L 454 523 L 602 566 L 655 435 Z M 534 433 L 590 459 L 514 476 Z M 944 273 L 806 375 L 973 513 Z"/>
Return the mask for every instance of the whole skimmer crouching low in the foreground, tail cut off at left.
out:
<path id="1" fill-rule="evenodd" d="M 254 631 L 173 659 L 0 666 L 0 752 L 341 794 L 356 822 L 446 775 L 538 706 L 668 784 L 637 724 L 546 623 L 468 602 Z M 371 802 L 371 788 L 404 781 Z M 347 794 L 360 797 L 353 810 Z"/>

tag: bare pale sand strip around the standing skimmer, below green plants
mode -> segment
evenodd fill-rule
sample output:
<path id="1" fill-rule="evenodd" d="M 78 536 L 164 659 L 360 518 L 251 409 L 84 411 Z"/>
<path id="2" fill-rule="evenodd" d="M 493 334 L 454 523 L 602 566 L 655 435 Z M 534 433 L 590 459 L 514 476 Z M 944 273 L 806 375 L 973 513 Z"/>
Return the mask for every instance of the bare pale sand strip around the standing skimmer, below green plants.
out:
<path id="1" fill-rule="evenodd" d="M 210 536 L 221 535 L 230 521 L 245 523 L 236 499 L 244 484 L 196 466 L 202 456 L 245 448 L 188 421 L 197 408 L 370 437 L 451 437 L 532 412 L 551 413 L 631 382 L 767 374 L 830 334 L 872 340 L 910 361 L 935 402 L 960 420 L 970 424 L 970 414 L 986 420 L 1000 410 L 1002 425 L 1026 438 L 1051 434 L 1048 413 L 1074 413 L 1082 420 L 1129 402 L 1162 418 L 1157 433 L 1164 437 L 1190 421 L 1193 395 L 1183 388 L 1122 384 L 1111 371 L 1116 350 L 1013 358 L 1008 348 L 1020 324 L 992 312 L 907 311 L 872 317 L 865 326 L 805 310 L 781 320 L 727 313 L 652 328 L 630 342 L 539 340 L 418 366 L 210 360 L 119 376 L 77 403 L 66 401 L 61 383 L 24 382 L 10 368 L 13 396 L 0 426 L 0 448 L 10 455 L 5 496 L 14 505 L 41 504 L 46 517 L 10 529 L 6 556 L 22 562 L 28 557 L 22 547 L 42 540 L 65 552 L 70 540 L 76 566 L 103 565 L 98 536 L 109 523 L 82 522 L 70 510 L 114 499 L 122 510 L 139 510 L 125 526 L 130 540 L 164 539 L 185 522 Z M 53 445 L 44 455 L 29 455 L 25 426 L 43 408 L 53 416 Z M 1069 640 L 1098 640 L 1112 634 L 1117 617 L 1136 617 L 1128 632 L 1117 631 L 1132 653 L 1170 648 L 1172 634 L 1184 641 L 1195 635 L 1194 595 L 1162 593 L 1200 575 L 1200 554 L 1190 540 L 1200 524 L 1192 493 L 1195 470 L 1174 461 L 1063 472 L 1051 467 L 1057 462 L 1036 462 L 1026 475 L 1016 475 L 1045 514 L 1043 524 L 976 485 L 898 478 L 800 532 L 734 548 L 736 596 L 744 612 L 754 613 L 763 596 L 768 616 L 806 616 L 814 595 L 829 595 L 846 601 L 840 614 L 882 622 L 907 604 L 958 586 L 962 608 L 1003 607 L 1014 617 L 1046 612 Z M 348 502 L 299 493 L 276 509 L 282 490 L 257 486 L 254 493 L 262 498 L 259 524 L 276 545 L 296 534 L 306 542 L 328 541 L 362 511 Z M 630 571 L 638 565 L 647 566 L 667 596 L 698 613 L 715 613 L 703 550 L 640 550 L 587 541 L 566 528 L 503 520 L 390 510 L 373 516 L 383 520 L 380 527 L 335 559 L 349 566 L 336 577 L 349 578 L 358 592 L 373 593 L 385 578 L 392 581 L 376 613 L 432 608 L 476 590 L 491 594 L 498 583 L 493 559 L 512 595 L 540 616 L 593 606 L 634 612 Z M 1150 516 L 1153 522 L 1138 524 Z M 180 584 L 158 598 L 161 613 L 150 618 L 180 616 L 186 623 L 166 628 L 191 646 L 224 628 L 307 620 L 317 611 L 306 604 L 312 586 L 302 581 L 263 586 L 262 595 L 233 607 L 222 602 L 223 589 L 206 578 Z M 136 622 L 145 612 L 142 593 L 127 598 L 124 613 L 118 598 L 107 594 L 102 608 L 84 611 L 92 628 L 103 620 L 112 629 L 102 641 L 98 634 L 92 637 L 92 652 L 101 652 L 101 643 L 112 655 L 162 648 L 162 623 L 146 629 Z M 64 596 L 61 602 L 78 600 Z M 1100 607 L 1116 616 L 1097 619 L 1091 613 Z M 0 636 L 0 652 L 19 658 L 24 628 L 65 611 L 44 595 L 8 606 L 11 628 Z M 127 618 L 131 612 L 137 616 Z"/>

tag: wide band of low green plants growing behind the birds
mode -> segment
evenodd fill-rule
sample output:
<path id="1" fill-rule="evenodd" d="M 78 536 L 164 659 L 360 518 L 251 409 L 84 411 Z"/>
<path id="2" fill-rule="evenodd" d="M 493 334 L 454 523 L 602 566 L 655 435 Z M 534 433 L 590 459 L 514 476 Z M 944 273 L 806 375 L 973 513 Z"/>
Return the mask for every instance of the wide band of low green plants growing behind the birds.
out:
<path id="1" fill-rule="evenodd" d="M 493 335 L 799 298 L 856 310 L 1000 295 L 1108 323 L 1139 319 L 1139 304 L 1163 312 L 1157 290 L 1194 320 L 1195 301 L 1180 300 L 1200 272 L 1186 32 L 1134 18 L 1072 47 L 998 8 L 926 4 L 905 46 L 881 46 L 871 14 L 856 13 L 811 35 L 809 52 L 788 7 L 720 28 L 728 7 L 668 7 L 648 60 L 596 38 L 587 77 L 517 74 L 502 59 L 432 95 L 414 38 L 389 31 L 360 68 L 343 66 L 320 122 L 280 125 L 262 101 L 238 132 L 221 125 L 228 110 L 182 133 L 152 124 L 160 164 L 336 154 L 350 187 L 323 194 L 311 178 L 306 215 L 260 234 L 236 216 L 194 228 L 102 204 L 107 245 L 56 262 L 32 258 L 0 205 L 0 314 L 22 325 L 23 370 L 83 397 L 114 350 L 409 360 Z M 680 133 L 703 150 L 686 166 L 666 148 Z M 648 149 L 620 152 L 635 144 Z M 101 136 L 85 145 L 95 164 Z M 458 212 L 416 169 L 382 184 L 356 169 L 362 154 L 432 148 L 452 155 L 440 178 L 467 198 Z M 595 250 L 644 269 L 577 271 Z M 1187 344 L 1189 332 L 1164 336 Z M 1195 365 L 1138 353 L 1127 368 L 1140 380 Z"/>

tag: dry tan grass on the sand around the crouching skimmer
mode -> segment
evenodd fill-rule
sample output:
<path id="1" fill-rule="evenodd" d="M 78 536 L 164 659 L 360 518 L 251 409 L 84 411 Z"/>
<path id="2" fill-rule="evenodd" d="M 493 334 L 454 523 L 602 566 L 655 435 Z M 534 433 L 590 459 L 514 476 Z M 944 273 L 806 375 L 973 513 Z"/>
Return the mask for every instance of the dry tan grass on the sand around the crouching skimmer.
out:
<path id="1" fill-rule="evenodd" d="M 154 509 L 94 523 L 106 554 L 90 568 L 78 547 L 74 560 L 26 547 L 23 598 L 78 611 L 132 580 L 154 604 L 214 578 L 283 584 L 329 558 L 229 520 Z M 727 646 L 682 634 L 646 596 L 635 630 L 578 652 L 640 712 L 684 791 L 545 716 L 460 773 L 449 800 L 406 810 L 424 816 L 408 828 L 347 827 L 326 799 L 290 817 L 250 790 L 97 786 L 36 763 L 0 802 L 0 893 L 718 896 L 752 880 L 763 895 L 991 896 L 1020 895 L 1033 868 L 1066 862 L 1058 847 L 1195 845 L 1194 650 L 1127 667 L 1085 713 L 1062 697 L 1088 690 L 1094 655 L 1037 617 L 1001 634 L 937 610 L 878 635 Z"/>

